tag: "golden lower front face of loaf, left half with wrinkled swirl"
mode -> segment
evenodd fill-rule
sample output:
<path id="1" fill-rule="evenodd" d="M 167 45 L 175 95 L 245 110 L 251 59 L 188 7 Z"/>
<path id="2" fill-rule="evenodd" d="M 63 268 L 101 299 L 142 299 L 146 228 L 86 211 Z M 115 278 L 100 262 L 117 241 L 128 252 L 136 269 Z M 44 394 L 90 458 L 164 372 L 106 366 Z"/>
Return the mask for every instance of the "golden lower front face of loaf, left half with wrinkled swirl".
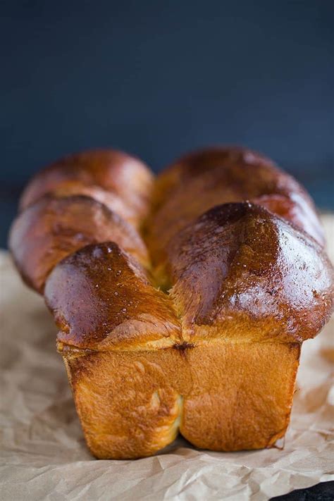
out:
<path id="1" fill-rule="evenodd" d="M 171 351 L 175 350 L 64 358 L 87 445 L 95 457 L 135 459 L 173 442 L 182 399 L 168 376 L 182 361 L 168 356 Z"/>

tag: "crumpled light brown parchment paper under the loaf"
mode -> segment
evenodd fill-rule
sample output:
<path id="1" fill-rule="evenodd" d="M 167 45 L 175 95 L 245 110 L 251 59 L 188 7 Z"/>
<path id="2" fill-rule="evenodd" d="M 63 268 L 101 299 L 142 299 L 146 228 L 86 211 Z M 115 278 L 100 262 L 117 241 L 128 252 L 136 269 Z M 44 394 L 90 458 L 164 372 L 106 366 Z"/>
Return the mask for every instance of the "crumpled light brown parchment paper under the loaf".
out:
<path id="1" fill-rule="evenodd" d="M 333 221 L 323 216 L 334 256 Z M 267 500 L 334 479 L 334 324 L 304 343 L 283 450 L 220 453 L 178 439 L 155 457 L 97 461 L 85 447 L 43 299 L 6 252 L 1 273 L 1 500 Z"/>

